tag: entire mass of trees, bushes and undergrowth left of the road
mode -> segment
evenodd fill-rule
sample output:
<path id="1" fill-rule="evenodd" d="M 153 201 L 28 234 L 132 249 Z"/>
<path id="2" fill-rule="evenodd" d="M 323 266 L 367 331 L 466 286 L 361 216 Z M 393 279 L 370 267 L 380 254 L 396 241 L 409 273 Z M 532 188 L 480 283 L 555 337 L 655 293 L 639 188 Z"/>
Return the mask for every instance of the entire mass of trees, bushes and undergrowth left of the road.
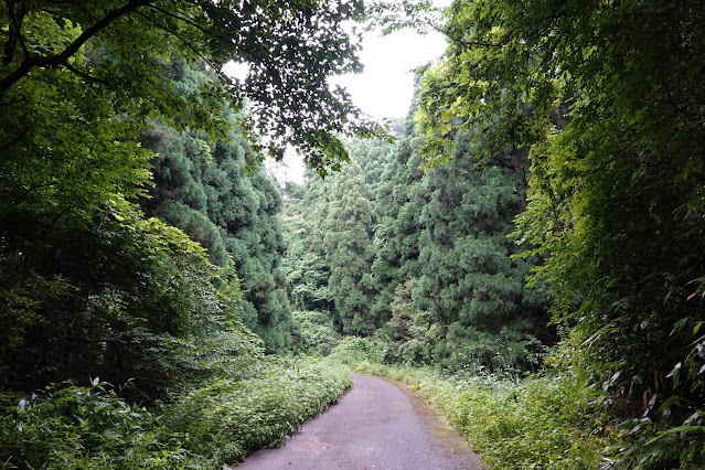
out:
<path id="1" fill-rule="evenodd" d="M 361 7 L 0 7 L 3 468 L 221 468 L 350 385 L 266 354 L 298 327 L 257 164 L 293 145 L 325 173 L 338 136 L 382 136 L 328 86 Z"/>

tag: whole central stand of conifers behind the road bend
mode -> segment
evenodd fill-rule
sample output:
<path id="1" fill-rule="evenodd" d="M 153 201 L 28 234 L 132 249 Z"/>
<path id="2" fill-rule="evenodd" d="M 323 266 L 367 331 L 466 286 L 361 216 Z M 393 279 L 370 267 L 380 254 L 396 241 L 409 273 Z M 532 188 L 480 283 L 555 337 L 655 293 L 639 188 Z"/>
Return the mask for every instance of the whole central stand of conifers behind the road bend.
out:
<path id="1" fill-rule="evenodd" d="M 397 143 L 353 142 L 340 174 L 311 175 L 290 263 L 321 264 L 295 271 L 290 289 L 319 279 L 342 332 L 378 333 L 399 362 L 534 368 L 557 337 L 546 290 L 524 286 L 532 264 L 509 237 L 526 206 L 527 154 L 510 149 L 479 168 L 478 145 L 458 136 L 453 161 L 423 171 L 412 116 Z"/>

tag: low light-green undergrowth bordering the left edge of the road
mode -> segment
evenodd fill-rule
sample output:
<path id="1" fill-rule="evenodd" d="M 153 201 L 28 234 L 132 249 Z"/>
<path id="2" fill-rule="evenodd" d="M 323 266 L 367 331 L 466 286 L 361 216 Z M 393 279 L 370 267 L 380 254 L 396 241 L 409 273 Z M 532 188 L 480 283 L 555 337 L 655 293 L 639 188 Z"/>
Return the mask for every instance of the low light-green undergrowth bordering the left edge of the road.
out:
<path id="1" fill-rule="evenodd" d="M 280 445 L 351 384 L 348 370 L 328 361 L 268 356 L 253 377 L 214 381 L 181 397 L 164 408 L 164 419 L 185 448 L 235 462 Z"/>

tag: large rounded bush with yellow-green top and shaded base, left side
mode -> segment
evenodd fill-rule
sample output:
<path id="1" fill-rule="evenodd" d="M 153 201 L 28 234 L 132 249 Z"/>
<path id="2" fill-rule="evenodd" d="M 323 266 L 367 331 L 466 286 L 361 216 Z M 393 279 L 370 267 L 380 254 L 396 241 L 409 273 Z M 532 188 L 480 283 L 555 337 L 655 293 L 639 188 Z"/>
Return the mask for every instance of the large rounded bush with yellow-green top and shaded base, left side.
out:
<path id="1" fill-rule="evenodd" d="M 11 305 L 0 314 L 9 327 L 0 334 L 4 389 L 135 377 L 131 397 L 152 400 L 207 375 L 192 357 L 209 354 L 200 346 L 210 337 L 229 331 L 255 346 L 239 320 L 232 265 L 210 264 L 183 232 L 143 218 L 124 199 L 92 216 L 89 229 L 57 226 L 63 238 L 52 241 L 55 247 L 28 249 L 24 265 L 36 274 L 17 256 L 6 259 L 10 246 L 0 247 L 0 280 L 9 287 L 0 299 Z"/>

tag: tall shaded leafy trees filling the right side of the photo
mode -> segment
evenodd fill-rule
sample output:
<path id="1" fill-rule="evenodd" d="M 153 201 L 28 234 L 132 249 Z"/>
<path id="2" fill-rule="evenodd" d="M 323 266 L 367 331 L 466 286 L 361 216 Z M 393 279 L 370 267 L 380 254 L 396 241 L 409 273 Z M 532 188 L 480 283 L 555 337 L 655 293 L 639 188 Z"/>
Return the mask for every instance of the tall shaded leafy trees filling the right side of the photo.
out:
<path id="1" fill-rule="evenodd" d="M 575 366 L 635 429 L 692 424 L 705 406 L 704 25 L 693 1 L 455 1 L 418 116 L 436 149 L 453 115 L 494 148 L 532 146 L 517 237 L 546 259 Z M 681 429 L 639 451 L 662 468 L 702 459 Z"/>

